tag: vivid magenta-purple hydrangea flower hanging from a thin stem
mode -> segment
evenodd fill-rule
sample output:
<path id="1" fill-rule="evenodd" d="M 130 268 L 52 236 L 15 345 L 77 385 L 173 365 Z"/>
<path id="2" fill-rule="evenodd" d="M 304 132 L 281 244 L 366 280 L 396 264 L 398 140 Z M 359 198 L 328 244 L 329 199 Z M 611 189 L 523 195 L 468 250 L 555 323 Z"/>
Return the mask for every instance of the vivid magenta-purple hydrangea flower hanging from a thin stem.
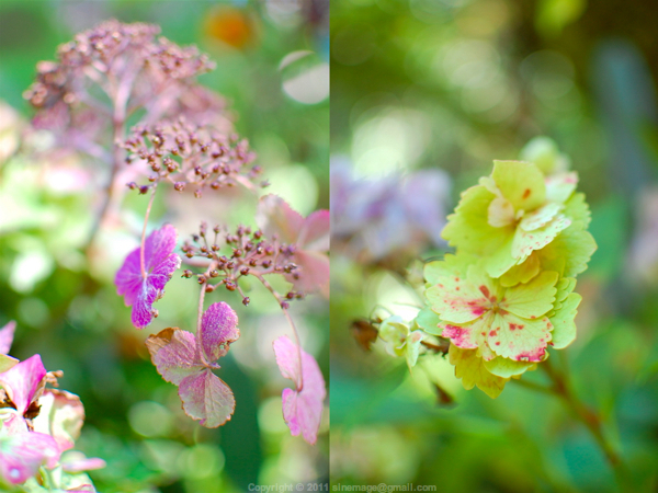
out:
<path id="1" fill-rule="evenodd" d="M 140 264 L 140 248 L 133 250 L 116 273 L 114 284 L 126 307 L 133 307 L 132 321 L 144 329 L 154 319 L 154 302 L 164 293 L 164 285 L 181 265 L 175 248 L 175 228 L 164 225 L 151 232 L 144 243 L 144 273 Z"/>

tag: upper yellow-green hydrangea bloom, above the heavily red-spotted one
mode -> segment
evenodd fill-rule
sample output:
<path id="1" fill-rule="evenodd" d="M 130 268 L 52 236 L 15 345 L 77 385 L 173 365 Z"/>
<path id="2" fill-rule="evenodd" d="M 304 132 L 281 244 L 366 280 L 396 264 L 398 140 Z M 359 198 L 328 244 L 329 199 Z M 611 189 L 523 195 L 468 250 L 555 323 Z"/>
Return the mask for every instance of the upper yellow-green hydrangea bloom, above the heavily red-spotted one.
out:
<path id="1" fill-rule="evenodd" d="M 461 251 L 486 257 L 487 273 L 501 277 L 589 215 L 585 202 L 574 197 L 577 183 L 574 172 L 546 177 L 533 163 L 494 161 L 491 176 L 462 194 L 442 236 Z"/>

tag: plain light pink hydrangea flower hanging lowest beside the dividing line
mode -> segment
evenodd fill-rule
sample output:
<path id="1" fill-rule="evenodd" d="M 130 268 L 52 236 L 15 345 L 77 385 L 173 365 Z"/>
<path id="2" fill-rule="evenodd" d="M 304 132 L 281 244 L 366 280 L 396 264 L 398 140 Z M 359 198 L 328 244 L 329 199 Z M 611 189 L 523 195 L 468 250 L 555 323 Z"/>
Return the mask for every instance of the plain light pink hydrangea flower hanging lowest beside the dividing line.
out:
<path id="1" fill-rule="evenodd" d="M 299 352 L 286 335 L 274 341 L 274 354 L 281 375 L 293 380 L 297 387 L 297 390 L 283 391 L 283 419 L 293 436 L 302 433 L 304 439 L 313 445 L 317 440 L 322 417 L 322 401 L 327 395 L 322 372 L 315 358 L 304 351 Z M 299 366 L 303 379 L 299 379 Z"/>

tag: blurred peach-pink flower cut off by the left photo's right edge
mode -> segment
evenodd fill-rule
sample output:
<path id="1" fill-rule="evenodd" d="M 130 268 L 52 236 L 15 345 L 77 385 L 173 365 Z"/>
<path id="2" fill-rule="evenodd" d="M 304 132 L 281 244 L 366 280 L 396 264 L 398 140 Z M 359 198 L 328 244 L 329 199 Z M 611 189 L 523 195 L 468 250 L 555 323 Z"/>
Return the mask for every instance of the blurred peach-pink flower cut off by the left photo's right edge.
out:
<path id="1" fill-rule="evenodd" d="M 329 210 L 321 209 L 304 218 L 276 195 L 261 197 L 258 226 L 288 245 L 295 245 L 293 262 L 298 268 L 286 278 L 302 293 L 329 293 Z"/>

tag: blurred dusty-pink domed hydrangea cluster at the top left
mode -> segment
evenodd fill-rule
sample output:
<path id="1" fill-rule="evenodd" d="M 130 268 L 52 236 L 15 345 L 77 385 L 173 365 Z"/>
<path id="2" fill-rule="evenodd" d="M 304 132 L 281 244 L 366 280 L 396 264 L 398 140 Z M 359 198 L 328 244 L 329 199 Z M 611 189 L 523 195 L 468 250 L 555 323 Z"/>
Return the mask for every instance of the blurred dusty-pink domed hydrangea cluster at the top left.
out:
<path id="1" fill-rule="evenodd" d="M 139 108 L 145 123 L 181 114 L 211 123 L 224 102 L 194 78 L 214 64 L 194 46 L 157 37 L 159 32 L 154 24 L 110 20 L 61 45 L 58 61 L 39 62 L 36 81 L 24 93 L 37 108 L 34 126 L 56 131 L 63 147 L 89 152 L 106 141 L 112 122 L 124 122 Z"/>

